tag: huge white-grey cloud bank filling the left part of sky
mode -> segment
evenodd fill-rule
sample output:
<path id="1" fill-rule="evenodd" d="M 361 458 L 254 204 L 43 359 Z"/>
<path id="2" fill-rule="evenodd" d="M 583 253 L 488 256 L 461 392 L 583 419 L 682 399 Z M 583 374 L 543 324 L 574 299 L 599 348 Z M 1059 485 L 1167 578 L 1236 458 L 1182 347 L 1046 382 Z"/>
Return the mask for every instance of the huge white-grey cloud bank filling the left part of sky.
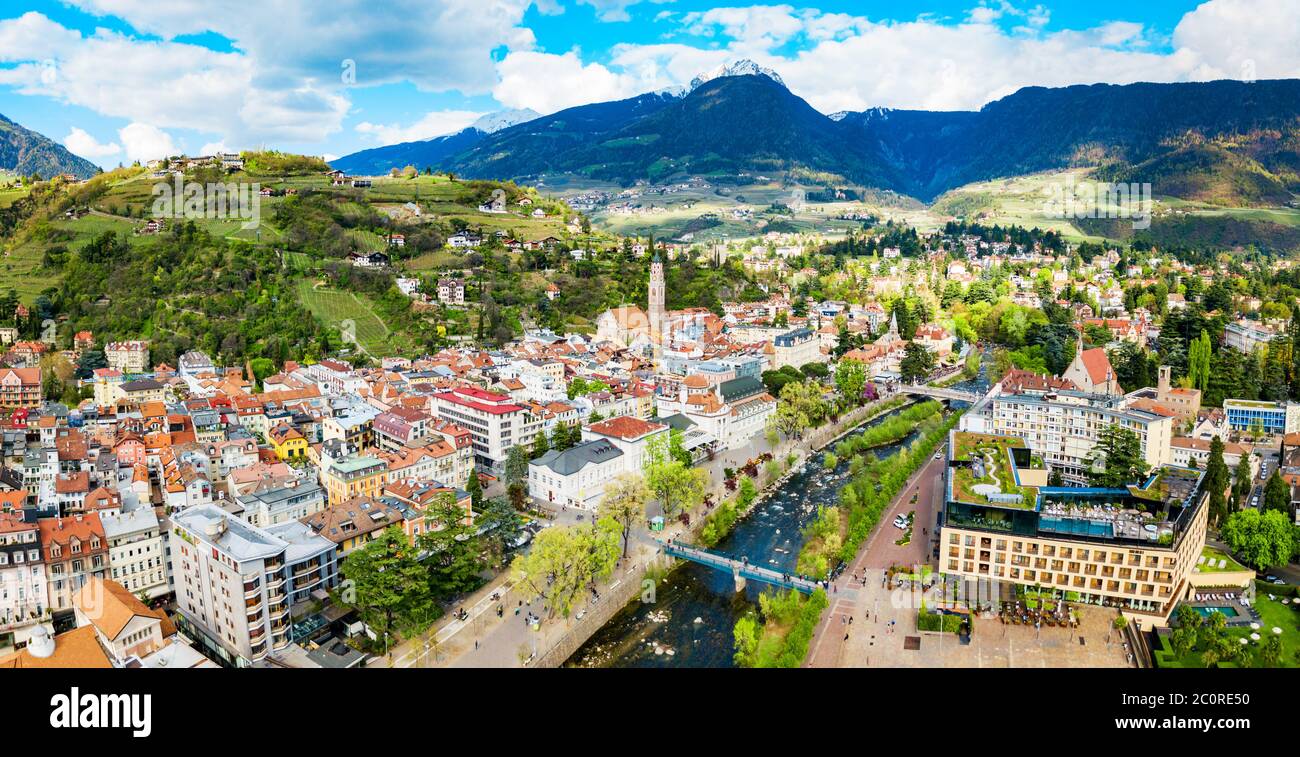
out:
<path id="1" fill-rule="evenodd" d="M 494 55 L 534 44 L 521 25 L 532 1 L 68 0 L 134 31 L 0 20 L 0 64 L 12 64 L 0 85 L 237 147 L 317 143 L 342 127 L 350 86 L 490 91 Z M 233 52 L 176 42 L 207 31 Z"/>

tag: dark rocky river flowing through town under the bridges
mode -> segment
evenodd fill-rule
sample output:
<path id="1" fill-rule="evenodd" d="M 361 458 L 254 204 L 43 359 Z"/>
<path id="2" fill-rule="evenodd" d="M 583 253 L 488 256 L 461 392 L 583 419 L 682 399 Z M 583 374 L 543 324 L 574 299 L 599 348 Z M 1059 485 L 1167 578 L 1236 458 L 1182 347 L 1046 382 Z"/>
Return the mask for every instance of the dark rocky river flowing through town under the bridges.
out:
<path id="1" fill-rule="evenodd" d="M 956 385 L 959 389 L 987 389 L 980 376 Z M 852 434 L 862 433 L 897 410 L 867 421 Z M 894 454 L 913 442 L 915 433 L 901 442 L 876 447 L 878 457 Z M 815 454 L 771 497 L 754 509 L 715 549 L 751 563 L 794 572 L 803 537 L 802 529 L 819 505 L 835 505 L 840 486 L 849 477 L 849 460 L 827 471 L 823 458 L 835 445 Z M 685 563 L 659 581 L 654 602 L 633 601 L 619 610 L 586 644 L 566 662 L 569 667 L 732 667 L 732 627 L 758 602 L 763 584 L 750 581 L 737 593 L 731 574 L 696 563 Z"/>

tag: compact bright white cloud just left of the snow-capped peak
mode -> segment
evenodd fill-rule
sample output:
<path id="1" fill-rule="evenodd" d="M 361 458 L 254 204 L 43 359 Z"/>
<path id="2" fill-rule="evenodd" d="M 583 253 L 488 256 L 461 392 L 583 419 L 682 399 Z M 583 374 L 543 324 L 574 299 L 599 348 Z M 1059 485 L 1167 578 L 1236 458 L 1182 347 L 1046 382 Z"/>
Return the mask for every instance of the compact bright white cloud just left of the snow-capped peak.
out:
<path id="1" fill-rule="evenodd" d="M 576 51 L 564 55 L 512 52 L 497 65 L 497 73 L 500 82 L 491 94 L 498 103 L 538 113 L 645 91 L 636 77 L 616 74 L 601 64 L 584 64 Z"/>

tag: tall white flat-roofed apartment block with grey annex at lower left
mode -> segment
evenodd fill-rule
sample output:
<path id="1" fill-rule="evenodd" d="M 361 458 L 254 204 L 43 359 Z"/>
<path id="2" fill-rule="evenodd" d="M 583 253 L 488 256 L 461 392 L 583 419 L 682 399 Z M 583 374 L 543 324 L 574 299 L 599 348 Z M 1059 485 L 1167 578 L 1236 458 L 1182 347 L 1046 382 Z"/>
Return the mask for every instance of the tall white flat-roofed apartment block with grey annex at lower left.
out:
<path id="1" fill-rule="evenodd" d="M 334 544 L 300 523 L 257 528 L 214 505 L 172 518 L 177 626 L 217 662 L 289 646 L 292 597 L 338 583 Z"/>

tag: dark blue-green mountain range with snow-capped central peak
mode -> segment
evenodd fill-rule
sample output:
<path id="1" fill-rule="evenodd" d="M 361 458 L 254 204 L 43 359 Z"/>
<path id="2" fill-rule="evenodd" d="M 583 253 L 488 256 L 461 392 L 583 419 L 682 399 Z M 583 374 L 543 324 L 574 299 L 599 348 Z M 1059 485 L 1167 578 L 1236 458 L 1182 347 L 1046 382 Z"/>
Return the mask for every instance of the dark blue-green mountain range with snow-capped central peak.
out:
<path id="1" fill-rule="evenodd" d="M 1026 87 L 979 111 L 826 116 L 749 61 L 662 91 L 494 133 L 368 150 L 354 173 L 433 166 L 469 178 L 575 173 L 629 185 L 673 174 L 803 172 L 922 200 L 974 181 L 1102 166 L 1157 195 L 1280 204 L 1300 191 L 1300 81 Z M 381 169 L 382 170 L 377 170 Z"/>

